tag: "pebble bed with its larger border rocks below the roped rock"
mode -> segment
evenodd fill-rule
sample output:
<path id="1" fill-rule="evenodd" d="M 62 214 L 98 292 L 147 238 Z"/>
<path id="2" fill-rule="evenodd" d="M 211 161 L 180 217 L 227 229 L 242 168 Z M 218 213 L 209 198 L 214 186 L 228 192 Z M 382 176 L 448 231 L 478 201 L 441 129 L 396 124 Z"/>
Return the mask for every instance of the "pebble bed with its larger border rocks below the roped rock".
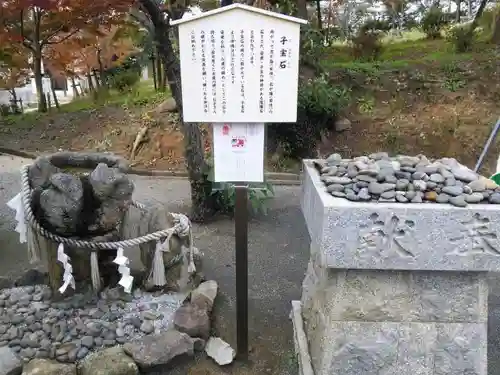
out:
<path id="1" fill-rule="evenodd" d="M 210 337 L 217 291 L 209 280 L 189 295 L 106 288 L 99 297 L 89 291 L 54 301 L 42 284 L 7 286 L 0 290 L 0 375 L 139 375 L 202 350 L 229 364 L 235 351 Z"/>

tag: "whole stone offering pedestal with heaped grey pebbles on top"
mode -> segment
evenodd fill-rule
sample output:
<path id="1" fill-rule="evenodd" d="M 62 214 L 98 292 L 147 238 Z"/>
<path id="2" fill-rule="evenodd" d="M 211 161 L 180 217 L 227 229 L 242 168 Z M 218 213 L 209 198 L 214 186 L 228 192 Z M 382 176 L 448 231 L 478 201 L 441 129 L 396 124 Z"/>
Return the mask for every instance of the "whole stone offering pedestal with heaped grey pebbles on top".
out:
<path id="1" fill-rule="evenodd" d="M 448 158 L 304 161 L 301 373 L 486 375 L 499 192 Z"/>

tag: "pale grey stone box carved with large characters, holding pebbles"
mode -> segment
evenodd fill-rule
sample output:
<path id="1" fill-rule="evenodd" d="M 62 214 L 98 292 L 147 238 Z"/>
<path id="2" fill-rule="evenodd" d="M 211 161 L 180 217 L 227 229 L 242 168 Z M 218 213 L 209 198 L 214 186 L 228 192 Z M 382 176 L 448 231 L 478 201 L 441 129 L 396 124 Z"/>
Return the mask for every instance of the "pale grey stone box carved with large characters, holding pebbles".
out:
<path id="1" fill-rule="evenodd" d="M 351 202 L 304 161 L 302 212 L 329 268 L 500 271 L 500 205 Z"/>

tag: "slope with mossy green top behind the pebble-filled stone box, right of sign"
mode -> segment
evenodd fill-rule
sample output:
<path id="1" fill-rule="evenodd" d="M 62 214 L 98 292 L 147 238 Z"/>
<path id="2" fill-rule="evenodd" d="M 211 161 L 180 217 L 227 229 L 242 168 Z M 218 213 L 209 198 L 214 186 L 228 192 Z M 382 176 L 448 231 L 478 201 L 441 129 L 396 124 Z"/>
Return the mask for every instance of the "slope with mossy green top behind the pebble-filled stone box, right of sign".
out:
<path id="1" fill-rule="evenodd" d="M 375 62 L 354 61 L 347 46 L 326 52 L 322 67 L 348 88 L 351 131 L 332 134 L 322 151 L 373 151 L 450 156 L 473 166 L 500 116 L 497 46 L 478 42 L 456 54 L 445 40 L 419 33 L 385 40 Z M 490 152 L 489 173 L 499 148 Z"/>

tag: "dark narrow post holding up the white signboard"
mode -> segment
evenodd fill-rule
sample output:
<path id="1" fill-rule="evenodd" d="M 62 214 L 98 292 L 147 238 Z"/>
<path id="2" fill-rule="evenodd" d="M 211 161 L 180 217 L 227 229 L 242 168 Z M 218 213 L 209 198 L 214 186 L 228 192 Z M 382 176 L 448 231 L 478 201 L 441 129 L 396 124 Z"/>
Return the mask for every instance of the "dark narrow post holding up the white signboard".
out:
<path id="1" fill-rule="evenodd" d="M 236 342 L 241 360 L 248 359 L 248 187 L 235 187 Z"/>

